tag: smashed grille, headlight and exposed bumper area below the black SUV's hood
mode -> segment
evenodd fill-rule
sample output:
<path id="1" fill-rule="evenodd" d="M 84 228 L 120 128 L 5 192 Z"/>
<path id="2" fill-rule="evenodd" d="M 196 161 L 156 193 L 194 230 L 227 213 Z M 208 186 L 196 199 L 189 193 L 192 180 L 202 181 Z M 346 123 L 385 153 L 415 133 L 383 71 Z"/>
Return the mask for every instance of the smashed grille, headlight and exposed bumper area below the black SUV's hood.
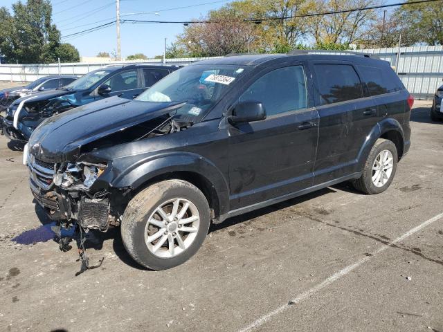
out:
<path id="1" fill-rule="evenodd" d="M 85 230 L 102 232 L 109 223 L 118 225 L 117 216 L 110 208 L 109 190 L 91 190 L 105 172 L 106 163 L 46 163 L 32 154 L 27 163 L 30 189 L 51 219 L 78 221 Z"/>

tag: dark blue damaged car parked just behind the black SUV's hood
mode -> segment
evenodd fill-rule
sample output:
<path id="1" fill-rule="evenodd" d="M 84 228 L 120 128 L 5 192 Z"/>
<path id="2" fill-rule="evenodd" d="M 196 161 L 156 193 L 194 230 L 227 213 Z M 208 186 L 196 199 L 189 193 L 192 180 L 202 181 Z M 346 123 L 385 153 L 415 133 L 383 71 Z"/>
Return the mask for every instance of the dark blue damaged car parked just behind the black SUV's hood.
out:
<path id="1" fill-rule="evenodd" d="M 135 98 L 177 68 L 129 64 L 91 71 L 61 89 L 44 91 L 12 102 L 3 120 L 3 132 L 10 140 L 26 142 L 46 118 L 114 95 Z"/>

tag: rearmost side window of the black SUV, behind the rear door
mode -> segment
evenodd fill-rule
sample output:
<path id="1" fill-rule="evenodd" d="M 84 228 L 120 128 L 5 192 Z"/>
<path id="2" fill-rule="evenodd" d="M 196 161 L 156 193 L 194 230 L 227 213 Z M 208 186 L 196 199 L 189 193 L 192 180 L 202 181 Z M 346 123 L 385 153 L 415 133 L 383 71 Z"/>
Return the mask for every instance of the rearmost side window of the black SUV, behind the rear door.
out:
<path id="1" fill-rule="evenodd" d="M 363 75 L 362 79 L 368 86 L 370 95 L 383 95 L 402 88 L 403 84 L 391 68 L 381 70 L 372 66 L 359 66 L 359 71 Z"/>

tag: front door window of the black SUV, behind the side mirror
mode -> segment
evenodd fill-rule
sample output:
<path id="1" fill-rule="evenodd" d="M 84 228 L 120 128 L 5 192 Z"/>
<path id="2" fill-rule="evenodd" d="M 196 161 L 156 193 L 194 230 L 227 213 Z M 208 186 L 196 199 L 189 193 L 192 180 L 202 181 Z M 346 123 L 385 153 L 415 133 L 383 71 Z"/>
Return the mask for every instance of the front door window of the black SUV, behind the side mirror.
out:
<path id="1" fill-rule="evenodd" d="M 307 107 L 305 73 L 302 66 L 278 68 L 255 81 L 239 101 L 262 102 L 266 114 L 283 113 Z"/>

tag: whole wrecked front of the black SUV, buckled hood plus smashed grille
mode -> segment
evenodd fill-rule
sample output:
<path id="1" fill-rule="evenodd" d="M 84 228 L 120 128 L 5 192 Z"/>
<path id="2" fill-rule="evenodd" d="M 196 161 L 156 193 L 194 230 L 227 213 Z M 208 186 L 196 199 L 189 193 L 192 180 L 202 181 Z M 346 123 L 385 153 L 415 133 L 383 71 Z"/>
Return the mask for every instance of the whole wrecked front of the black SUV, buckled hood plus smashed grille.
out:
<path id="1" fill-rule="evenodd" d="M 131 188 L 111 186 L 116 176 L 113 157 L 98 157 L 98 151 L 192 125 L 174 120 L 174 110 L 183 103 L 146 110 L 145 102 L 132 102 L 132 117 L 127 116 L 128 103 L 107 98 L 94 103 L 95 108 L 91 104 L 63 113 L 34 131 L 25 147 L 24 163 L 35 200 L 51 219 L 102 232 L 109 225 L 119 225 Z"/>

